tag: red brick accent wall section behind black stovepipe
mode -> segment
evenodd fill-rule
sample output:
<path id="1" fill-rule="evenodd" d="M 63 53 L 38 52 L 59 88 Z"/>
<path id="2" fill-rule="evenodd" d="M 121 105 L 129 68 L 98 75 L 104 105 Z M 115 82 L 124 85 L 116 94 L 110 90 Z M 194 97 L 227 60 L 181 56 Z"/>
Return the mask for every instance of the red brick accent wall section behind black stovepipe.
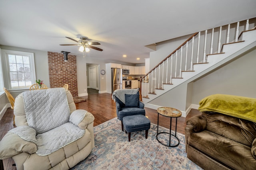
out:
<path id="1" fill-rule="evenodd" d="M 48 52 L 48 66 L 50 88 L 68 84 L 68 90 L 72 96 L 78 96 L 76 56 L 68 55 L 68 62 L 64 62 L 63 53 Z"/>

